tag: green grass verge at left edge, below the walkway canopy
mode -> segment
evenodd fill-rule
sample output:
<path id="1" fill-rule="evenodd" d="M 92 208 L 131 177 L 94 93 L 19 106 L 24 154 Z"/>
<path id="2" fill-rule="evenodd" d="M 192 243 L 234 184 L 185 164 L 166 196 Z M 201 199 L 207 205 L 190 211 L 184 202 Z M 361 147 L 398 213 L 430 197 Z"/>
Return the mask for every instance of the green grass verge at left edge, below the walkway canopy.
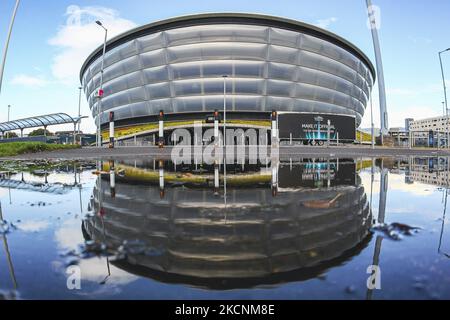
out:
<path id="1" fill-rule="evenodd" d="M 80 148 L 73 144 L 48 144 L 43 142 L 6 142 L 0 143 L 0 157 L 17 156 L 24 153 L 36 153 L 63 149 Z"/>

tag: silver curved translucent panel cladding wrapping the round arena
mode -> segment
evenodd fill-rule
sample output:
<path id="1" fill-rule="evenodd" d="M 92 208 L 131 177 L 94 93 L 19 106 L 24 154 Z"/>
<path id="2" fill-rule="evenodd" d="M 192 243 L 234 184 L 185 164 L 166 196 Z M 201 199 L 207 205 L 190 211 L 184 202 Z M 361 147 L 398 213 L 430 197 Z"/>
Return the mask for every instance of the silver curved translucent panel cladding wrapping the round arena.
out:
<path id="1" fill-rule="evenodd" d="M 373 67 L 356 48 L 343 45 L 343 39 L 315 27 L 309 32 L 303 24 L 302 31 L 271 26 L 267 17 L 261 24 L 242 17 L 238 22 L 221 22 L 220 16 L 208 22 L 183 19 L 184 24 L 161 22 L 159 28 L 145 32 L 143 27 L 108 44 L 102 123 L 109 111 L 121 120 L 159 110 L 221 109 L 223 75 L 229 76 L 229 111 L 333 113 L 361 122 Z M 94 53 L 81 77 L 95 116 L 102 59 Z"/>

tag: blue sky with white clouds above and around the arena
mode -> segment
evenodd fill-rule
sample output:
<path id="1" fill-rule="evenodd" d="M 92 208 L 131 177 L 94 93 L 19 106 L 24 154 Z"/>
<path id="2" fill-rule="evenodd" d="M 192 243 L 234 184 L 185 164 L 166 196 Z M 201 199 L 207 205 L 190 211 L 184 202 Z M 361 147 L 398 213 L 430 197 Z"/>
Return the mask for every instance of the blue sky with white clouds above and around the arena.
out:
<path id="1" fill-rule="evenodd" d="M 14 3 L 0 1 L 2 49 Z M 405 117 L 442 114 L 437 52 L 450 47 L 450 1 L 373 0 L 373 4 L 380 8 L 390 126 L 403 126 Z M 78 112 L 79 69 L 102 43 L 102 30 L 93 24 L 97 18 L 118 34 L 155 20 L 201 12 L 262 13 L 319 25 L 353 42 L 375 61 L 365 0 L 22 0 L 0 94 L 0 121 L 6 121 L 8 104 L 13 119 Z M 450 80 L 450 52 L 443 58 Z M 377 124 L 377 90 L 373 98 Z M 82 114 L 90 115 L 84 96 Z M 363 127 L 369 126 L 368 109 Z M 92 118 L 82 129 L 94 130 Z"/>

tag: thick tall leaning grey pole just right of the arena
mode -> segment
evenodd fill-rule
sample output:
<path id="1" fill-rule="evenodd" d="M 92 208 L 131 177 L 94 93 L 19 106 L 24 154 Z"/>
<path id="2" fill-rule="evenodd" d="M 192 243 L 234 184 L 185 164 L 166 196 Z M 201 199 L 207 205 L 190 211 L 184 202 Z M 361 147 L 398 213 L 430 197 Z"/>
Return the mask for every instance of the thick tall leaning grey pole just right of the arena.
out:
<path id="1" fill-rule="evenodd" d="M 375 51 L 375 60 L 377 64 L 378 92 L 380 96 L 380 136 L 383 144 L 383 135 L 388 133 L 388 113 L 386 106 L 386 89 L 384 84 L 383 61 L 381 59 L 380 40 L 378 39 L 378 30 L 374 17 L 371 0 L 366 0 L 367 12 L 369 14 L 370 29 L 372 31 L 373 47 Z"/>

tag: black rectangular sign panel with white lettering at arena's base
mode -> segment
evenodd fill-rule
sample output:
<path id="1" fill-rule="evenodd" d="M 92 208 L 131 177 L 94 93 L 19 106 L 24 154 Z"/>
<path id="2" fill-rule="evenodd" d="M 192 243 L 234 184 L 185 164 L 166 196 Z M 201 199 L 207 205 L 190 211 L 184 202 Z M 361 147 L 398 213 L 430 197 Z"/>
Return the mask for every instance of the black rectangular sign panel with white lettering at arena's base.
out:
<path id="1" fill-rule="evenodd" d="M 281 113 L 278 115 L 280 139 L 327 140 L 328 120 L 330 120 L 330 139 L 354 141 L 356 139 L 355 118 L 351 116 Z"/>

